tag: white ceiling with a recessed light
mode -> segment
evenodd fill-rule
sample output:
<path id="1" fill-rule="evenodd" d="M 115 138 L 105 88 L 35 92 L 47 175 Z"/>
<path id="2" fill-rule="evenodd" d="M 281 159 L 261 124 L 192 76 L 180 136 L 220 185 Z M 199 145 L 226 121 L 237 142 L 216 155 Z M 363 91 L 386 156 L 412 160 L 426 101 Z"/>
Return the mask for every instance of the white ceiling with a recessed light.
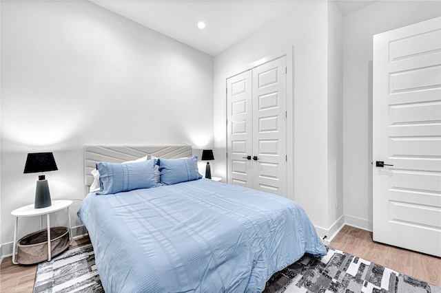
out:
<path id="1" fill-rule="evenodd" d="M 327 0 L 90 0 L 147 28 L 216 55 L 294 10 L 299 1 Z M 336 1 L 347 15 L 375 1 Z M 205 29 L 197 28 L 199 21 Z"/>

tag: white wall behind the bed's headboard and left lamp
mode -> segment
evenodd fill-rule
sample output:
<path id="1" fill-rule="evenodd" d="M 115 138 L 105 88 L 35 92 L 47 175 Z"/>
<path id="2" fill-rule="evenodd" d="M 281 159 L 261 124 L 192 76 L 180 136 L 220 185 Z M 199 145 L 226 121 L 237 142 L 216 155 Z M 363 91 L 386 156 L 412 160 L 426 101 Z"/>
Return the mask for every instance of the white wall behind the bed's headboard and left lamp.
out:
<path id="1" fill-rule="evenodd" d="M 82 199 L 85 144 L 212 146 L 212 56 L 88 1 L 1 4 L 1 243 L 10 212 L 34 202 L 27 153 L 54 153 L 52 199 Z"/>

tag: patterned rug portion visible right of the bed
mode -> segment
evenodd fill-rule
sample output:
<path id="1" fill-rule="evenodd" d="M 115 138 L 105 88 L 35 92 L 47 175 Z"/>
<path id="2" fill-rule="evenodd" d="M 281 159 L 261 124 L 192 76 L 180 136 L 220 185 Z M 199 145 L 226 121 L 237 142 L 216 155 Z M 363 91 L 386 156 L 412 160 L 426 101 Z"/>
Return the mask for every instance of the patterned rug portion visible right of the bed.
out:
<path id="1" fill-rule="evenodd" d="M 441 292 L 440 287 L 412 276 L 334 248 L 327 250 L 325 257 L 315 258 L 305 254 L 289 267 L 276 272 L 267 282 L 264 292 Z"/>

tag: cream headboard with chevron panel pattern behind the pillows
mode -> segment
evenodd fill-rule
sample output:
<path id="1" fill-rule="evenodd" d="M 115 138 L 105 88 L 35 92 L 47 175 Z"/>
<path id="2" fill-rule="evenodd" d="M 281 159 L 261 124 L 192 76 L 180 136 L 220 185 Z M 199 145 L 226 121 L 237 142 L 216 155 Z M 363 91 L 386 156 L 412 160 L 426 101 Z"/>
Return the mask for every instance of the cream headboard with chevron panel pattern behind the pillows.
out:
<path id="1" fill-rule="evenodd" d="M 94 177 L 90 171 L 95 169 L 96 162 L 122 163 L 136 160 L 147 155 L 147 158 L 187 158 L 192 156 L 191 145 L 86 145 L 84 147 L 84 182 L 90 186 Z"/>

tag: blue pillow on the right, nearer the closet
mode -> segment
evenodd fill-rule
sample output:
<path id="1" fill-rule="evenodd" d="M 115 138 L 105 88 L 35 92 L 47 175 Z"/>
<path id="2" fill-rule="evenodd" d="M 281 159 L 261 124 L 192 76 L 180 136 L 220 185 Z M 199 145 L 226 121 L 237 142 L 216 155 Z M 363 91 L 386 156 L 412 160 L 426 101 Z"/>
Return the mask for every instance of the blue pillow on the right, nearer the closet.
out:
<path id="1" fill-rule="evenodd" d="M 198 172 L 198 157 L 181 159 L 158 159 L 162 184 L 175 184 L 179 182 L 198 180 L 202 175 Z"/>

